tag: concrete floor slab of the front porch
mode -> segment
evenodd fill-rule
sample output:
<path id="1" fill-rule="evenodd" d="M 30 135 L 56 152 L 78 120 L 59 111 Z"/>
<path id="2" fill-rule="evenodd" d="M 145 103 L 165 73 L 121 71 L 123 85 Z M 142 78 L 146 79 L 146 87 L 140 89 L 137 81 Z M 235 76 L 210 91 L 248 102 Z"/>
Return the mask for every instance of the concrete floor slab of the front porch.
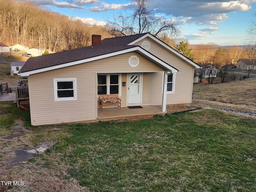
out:
<path id="1" fill-rule="evenodd" d="M 98 120 L 120 120 L 120 119 L 133 119 L 133 118 L 148 118 L 154 115 L 164 115 L 161 108 L 153 105 L 142 105 L 142 108 L 128 108 L 121 107 L 121 110 L 117 107 L 108 108 L 105 107 L 101 111 L 98 108 Z"/>

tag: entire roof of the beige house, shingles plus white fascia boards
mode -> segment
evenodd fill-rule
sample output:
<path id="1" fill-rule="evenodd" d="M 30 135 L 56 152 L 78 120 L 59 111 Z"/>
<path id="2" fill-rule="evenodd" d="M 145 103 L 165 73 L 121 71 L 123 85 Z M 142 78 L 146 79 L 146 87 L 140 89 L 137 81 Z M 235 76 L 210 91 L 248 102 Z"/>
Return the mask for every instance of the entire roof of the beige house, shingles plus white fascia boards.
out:
<path id="1" fill-rule="evenodd" d="M 25 62 L 20 72 L 24 73 L 23 76 L 29 76 L 30 74 L 36 74 L 48 70 L 82 64 L 85 62 L 108 58 L 111 56 L 116 56 L 133 51 L 138 52 L 142 56 L 153 61 L 167 71 L 178 72 L 178 69 L 170 66 L 169 64 L 157 58 L 150 52 L 144 50 L 140 46 L 133 45 L 135 42 L 138 42 L 145 37 L 149 37 L 155 42 L 158 42 L 158 44 L 161 44 L 166 49 L 174 53 L 185 62 L 191 64 L 192 66 L 200 67 L 173 48 L 171 48 L 170 46 L 164 44 L 162 41 L 152 36 L 151 34 L 146 33 L 119 38 L 107 38 L 102 40 L 100 45 L 87 46 L 63 52 L 56 52 L 54 54 L 46 54 L 34 58 L 32 57 Z"/>

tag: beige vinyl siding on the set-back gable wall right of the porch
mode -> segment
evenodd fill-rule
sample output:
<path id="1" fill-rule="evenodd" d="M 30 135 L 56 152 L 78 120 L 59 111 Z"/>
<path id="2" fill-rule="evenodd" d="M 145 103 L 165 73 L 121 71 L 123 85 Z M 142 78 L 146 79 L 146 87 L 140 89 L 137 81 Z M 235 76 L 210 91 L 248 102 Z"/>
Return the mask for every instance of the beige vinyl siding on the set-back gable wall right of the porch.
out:
<path id="1" fill-rule="evenodd" d="M 192 102 L 194 68 L 149 38 L 145 38 L 144 40 L 150 42 L 150 49 L 148 50 L 150 53 L 180 71 L 180 73 L 176 73 L 174 80 L 174 93 L 167 94 L 166 104 L 190 104 Z M 144 40 L 137 42 L 136 45 L 141 46 Z"/>

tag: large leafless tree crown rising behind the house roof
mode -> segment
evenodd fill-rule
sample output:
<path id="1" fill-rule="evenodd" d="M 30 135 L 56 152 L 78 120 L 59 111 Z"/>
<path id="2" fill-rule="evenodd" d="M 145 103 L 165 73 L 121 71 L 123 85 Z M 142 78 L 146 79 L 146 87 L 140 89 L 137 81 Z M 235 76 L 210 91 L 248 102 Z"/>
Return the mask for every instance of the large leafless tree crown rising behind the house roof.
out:
<path id="1" fill-rule="evenodd" d="M 158 16 L 157 16 L 158 15 Z M 150 8 L 147 0 L 136 0 L 133 14 L 122 12 L 114 16 L 114 21 L 107 20 L 107 30 L 113 36 L 126 36 L 150 32 L 160 37 L 163 33 L 175 36 L 180 33 L 173 18 L 159 16 L 156 8 Z"/>

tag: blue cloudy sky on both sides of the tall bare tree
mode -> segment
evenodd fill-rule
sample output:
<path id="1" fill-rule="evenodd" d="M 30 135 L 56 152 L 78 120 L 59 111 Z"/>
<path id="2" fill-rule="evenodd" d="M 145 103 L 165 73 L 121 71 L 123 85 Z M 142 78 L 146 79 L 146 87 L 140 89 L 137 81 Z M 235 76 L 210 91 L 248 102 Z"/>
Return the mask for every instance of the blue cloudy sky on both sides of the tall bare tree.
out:
<path id="1" fill-rule="evenodd" d="M 31 0 L 54 12 L 104 25 L 120 11 L 132 12 L 134 0 Z M 174 18 L 190 44 L 255 43 L 247 36 L 256 0 L 148 0 L 162 15 Z"/>

